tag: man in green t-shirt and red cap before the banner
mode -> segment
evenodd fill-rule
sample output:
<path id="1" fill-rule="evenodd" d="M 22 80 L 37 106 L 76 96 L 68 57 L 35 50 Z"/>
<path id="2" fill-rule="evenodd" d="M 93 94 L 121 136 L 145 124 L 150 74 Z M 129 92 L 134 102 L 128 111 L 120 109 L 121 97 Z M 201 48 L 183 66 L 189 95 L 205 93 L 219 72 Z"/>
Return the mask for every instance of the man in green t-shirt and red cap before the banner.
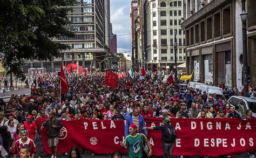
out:
<path id="1" fill-rule="evenodd" d="M 129 157 L 143 157 L 143 142 L 145 142 L 147 147 L 149 147 L 149 153 L 147 156 L 151 156 L 152 147 L 150 142 L 144 134 L 137 133 L 137 126 L 135 124 L 131 124 L 129 126 L 129 133 L 130 134 L 125 137 L 125 142 L 120 141 L 120 146 L 122 146 L 123 149 L 127 149 L 129 147 Z"/>

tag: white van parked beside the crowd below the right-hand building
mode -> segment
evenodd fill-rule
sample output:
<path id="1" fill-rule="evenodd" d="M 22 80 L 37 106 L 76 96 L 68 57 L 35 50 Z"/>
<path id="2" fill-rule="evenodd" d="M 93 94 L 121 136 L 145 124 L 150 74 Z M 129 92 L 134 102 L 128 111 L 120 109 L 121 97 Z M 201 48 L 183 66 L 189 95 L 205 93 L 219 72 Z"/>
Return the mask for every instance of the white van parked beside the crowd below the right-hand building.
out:
<path id="1" fill-rule="evenodd" d="M 223 90 L 220 87 L 216 87 L 216 86 L 208 86 L 208 85 L 201 85 L 199 87 L 199 90 L 201 90 L 201 94 L 204 93 L 204 91 L 207 94 L 207 100 L 208 97 L 212 97 L 212 95 L 215 93 L 217 95 L 217 98 L 221 98 L 224 99 L 224 95 L 223 95 Z"/>

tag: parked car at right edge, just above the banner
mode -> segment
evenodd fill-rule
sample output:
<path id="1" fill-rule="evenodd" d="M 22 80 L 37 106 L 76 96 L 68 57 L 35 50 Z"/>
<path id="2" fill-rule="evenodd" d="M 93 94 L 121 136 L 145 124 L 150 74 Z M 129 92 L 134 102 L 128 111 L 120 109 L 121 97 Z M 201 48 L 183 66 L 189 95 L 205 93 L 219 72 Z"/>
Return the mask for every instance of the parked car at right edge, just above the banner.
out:
<path id="1" fill-rule="evenodd" d="M 238 95 L 233 95 L 232 97 L 230 97 L 230 99 L 228 99 L 228 103 L 231 106 L 237 106 L 240 99 L 244 100 L 244 103 L 246 105 L 246 109 L 251 109 L 252 110 L 252 115 L 254 117 L 256 117 L 256 99 L 251 99 L 249 97 L 242 97 L 242 96 L 238 96 Z"/>

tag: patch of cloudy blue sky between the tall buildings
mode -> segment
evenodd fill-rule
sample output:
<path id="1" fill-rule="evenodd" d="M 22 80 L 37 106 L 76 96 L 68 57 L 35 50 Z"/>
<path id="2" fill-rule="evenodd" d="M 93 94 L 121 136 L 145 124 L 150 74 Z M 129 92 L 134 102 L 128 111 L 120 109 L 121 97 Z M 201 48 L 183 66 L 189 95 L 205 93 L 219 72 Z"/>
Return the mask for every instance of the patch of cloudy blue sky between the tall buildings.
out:
<path id="1" fill-rule="evenodd" d="M 113 34 L 117 35 L 117 52 L 131 53 L 131 0 L 110 0 L 110 22 Z M 119 36 L 124 35 L 124 36 Z"/>

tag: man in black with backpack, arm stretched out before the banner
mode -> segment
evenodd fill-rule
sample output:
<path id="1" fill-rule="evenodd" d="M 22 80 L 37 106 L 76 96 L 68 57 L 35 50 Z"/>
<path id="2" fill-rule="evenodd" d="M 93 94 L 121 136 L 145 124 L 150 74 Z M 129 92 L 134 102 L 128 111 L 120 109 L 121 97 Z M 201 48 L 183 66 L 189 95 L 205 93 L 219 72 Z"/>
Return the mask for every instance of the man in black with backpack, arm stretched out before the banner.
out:
<path id="1" fill-rule="evenodd" d="M 163 157 L 172 157 L 173 152 L 173 144 L 176 142 L 176 131 L 173 128 L 172 125 L 170 125 L 170 118 L 163 118 L 163 125 L 157 126 L 157 127 L 143 127 L 143 129 L 153 129 L 153 130 L 161 130 L 162 132 L 162 138 L 161 142 L 163 143 Z M 167 138 L 170 136 L 170 131 L 173 135 L 173 140 L 168 140 Z M 169 156 L 168 156 L 169 154 Z"/>

